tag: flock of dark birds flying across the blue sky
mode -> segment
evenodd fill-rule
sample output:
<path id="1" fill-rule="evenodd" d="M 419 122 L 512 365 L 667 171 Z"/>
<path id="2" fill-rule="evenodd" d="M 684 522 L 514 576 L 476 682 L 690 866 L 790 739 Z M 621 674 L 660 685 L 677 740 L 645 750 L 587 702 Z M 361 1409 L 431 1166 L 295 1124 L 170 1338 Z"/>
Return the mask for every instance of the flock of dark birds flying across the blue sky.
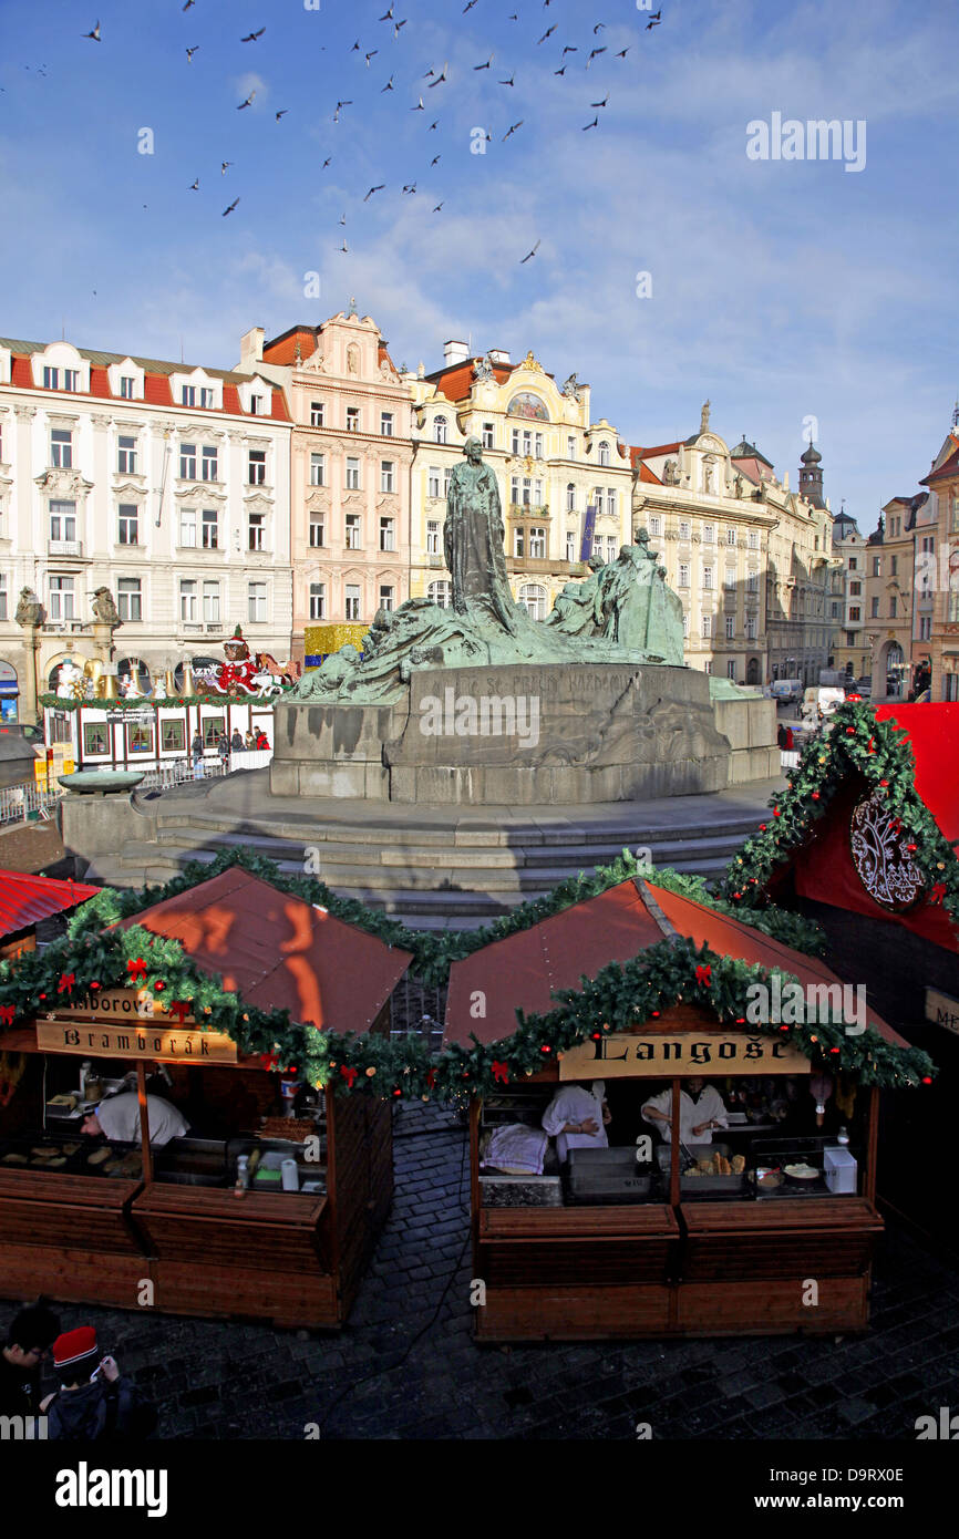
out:
<path id="1" fill-rule="evenodd" d="M 474 6 L 479 5 L 479 3 L 480 3 L 480 0 L 466 0 L 466 5 L 462 9 L 462 15 L 466 15 L 466 12 L 473 11 Z M 486 0 L 485 0 L 485 3 L 486 3 Z M 197 5 L 197 0 L 185 0 L 185 5 L 182 6 L 182 11 L 183 12 L 191 11 L 195 5 Z M 543 9 L 550 9 L 551 5 L 553 5 L 553 0 L 543 0 Z M 639 6 L 637 6 L 637 9 L 639 9 Z M 519 11 L 513 12 L 508 17 L 508 20 L 519 23 L 519 20 L 520 20 Z M 399 17 L 397 18 L 397 15 L 396 15 L 396 0 L 393 0 L 393 3 L 388 6 L 388 9 L 383 12 L 383 15 L 380 15 L 379 23 L 380 25 L 382 23 L 388 23 L 388 34 L 386 35 L 391 34 L 393 40 L 399 42 L 400 37 L 403 35 L 403 28 L 406 28 L 406 25 L 408 25 L 408 18 L 406 17 Z M 559 22 L 553 22 L 546 28 L 546 31 L 542 34 L 542 37 L 539 37 L 536 40 L 536 48 L 542 48 L 543 43 L 548 43 L 553 38 L 553 35 L 556 34 L 556 31 L 559 29 L 559 25 L 560 25 Z M 660 25 L 662 25 L 662 8 L 659 11 L 656 11 L 656 12 L 653 12 L 653 14 L 648 15 L 645 31 L 650 32 L 650 31 L 653 31 L 654 28 L 657 28 Z M 596 22 L 593 25 L 593 46 L 583 46 L 583 48 L 580 48 L 579 45 L 565 43 L 563 49 L 562 49 L 562 54 L 559 57 L 559 68 L 554 69 L 553 74 L 565 77 L 566 71 L 571 66 L 576 66 L 577 63 L 580 63 L 580 58 L 571 58 L 571 55 L 574 55 L 574 54 L 576 55 L 583 55 L 585 54 L 585 72 L 588 72 L 591 69 L 591 66 L 597 60 L 602 60 L 603 54 L 608 54 L 608 51 L 610 51 L 608 45 L 602 42 L 602 34 L 605 31 L 606 31 L 606 23 L 605 22 Z M 256 45 L 256 43 L 260 42 L 260 38 L 265 35 L 265 32 L 266 32 L 266 26 L 260 26 L 256 31 L 251 31 L 245 37 L 242 37 L 240 43 L 254 43 Z M 103 35 L 102 35 L 102 31 L 100 31 L 100 22 L 97 22 L 97 25 L 89 32 L 85 32 L 83 37 L 85 38 L 91 38 L 94 43 L 102 43 L 103 42 Z M 613 57 L 619 58 L 619 60 L 625 60 L 627 55 L 630 54 L 630 46 L 627 46 L 627 48 L 614 52 Z M 200 51 L 200 45 L 185 48 L 186 63 L 188 65 L 192 65 L 194 55 L 199 51 Z M 365 48 L 360 43 L 360 38 L 357 38 L 354 42 L 353 48 L 348 49 L 348 52 L 349 52 L 349 55 L 360 54 L 362 58 L 363 58 L 365 68 L 369 69 L 373 66 L 373 60 L 380 55 L 380 48 L 379 46 L 377 48 Z M 476 74 L 479 74 L 482 71 L 490 71 L 491 72 L 494 60 L 496 60 L 496 52 L 491 52 L 490 57 L 485 58 L 482 63 L 473 65 L 473 71 Z M 493 78 L 493 75 L 491 75 L 491 78 Z M 393 72 L 389 75 L 389 78 L 386 80 L 386 83 L 383 86 L 380 86 L 380 92 L 379 94 L 385 95 L 386 92 L 396 92 L 397 91 L 396 80 L 397 80 L 396 72 Z M 408 111 L 409 112 L 423 112 L 425 115 L 431 117 L 433 114 L 431 112 L 428 114 L 426 102 L 423 100 L 423 97 L 425 97 L 426 92 L 436 91 L 439 86 L 443 86 L 443 85 L 449 83 L 449 62 L 446 60 L 443 63 L 443 68 L 439 69 L 439 71 L 434 66 L 431 66 L 420 77 L 420 82 L 423 82 L 423 80 L 426 82 L 426 85 L 425 86 L 419 85 L 419 89 L 414 88 L 417 100 L 416 100 L 416 105 L 411 106 Z M 516 69 L 513 69 L 511 74 L 506 75 L 505 78 L 499 78 L 499 74 L 497 74 L 497 85 L 503 86 L 506 89 L 516 89 Z M 599 114 L 605 108 L 608 108 L 608 105 L 610 105 L 610 95 L 611 95 L 611 92 L 606 91 L 605 95 L 600 100 L 590 103 L 590 111 L 594 112 L 594 117 L 593 117 L 593 120 L 590 123 L 582 125 L 582 132 L 583 134 L 588 134 L 591 129 L 599 129 L 599 126 L 600 126 L 600 117 L 599 117 Z M 256 97 L 257 97 L 256 89 L 249 91 L 249 94 L 245 97 L 245 100 L 237 103 L 236 111 L 237 112 L 243 112 L 248 108 L 251 108 L 252 103 L 256 102 Z M 434 100 L 431 97 L 428 97 L 428 100 L 429 100 L 429 105 L 433 106 Z M 339 125 L 340 114 L 345 112 L 345 109 L 351 108 L 351 106 L 354 106 L 354 100 L 353 98 L 342 98 L 342 100 L 339 100 L 336 103 L 336 108 L 334 108 L 334 112 L 332 112 L 332 123 Z M 288 115 L 288 111 L 289 111 L 289 108 L 282 108 L 279 111 L 274 111 L 274 122 L 280 123 Z M 519 119 L 516 123 L 511 123 L 508 126 L 506 132 L 502 135 L 500 143 L 506 143 L 510 139 L 513 139 L 513 135 L 517 134 L 523 128 L 523 125 L 525 125 L 525 119 Z M 428 132 L 437 132 L 439 126 L 440 126 L 440 119 L 436 117 L 436 119 L 433 119 L 433 122 L 429 123 L 429 126 L 428 126 L 426 131 Z M 483 137 L 485 137 L 485 140 L 488 143 L 493 142 L 493 134 L 488 129 L 483 131 Z M 483 149 L 485 149 L 485 146 L 483 146 Z M 322 165 L 323 171 L 332 163 L 332 159 L 334 159 L 332 155 L 328 155 L 323 160 L 323 165 Z M 442 151 L 433 157 L 433 160 L 429 162 L 429 169 L 433 169 L 434 166 L 437 166 L 440 160 L 442 160 Z M 232 165 L 234 165 L 232 160 L 223 160 L 220 163 L 220 175 L 226 175 L 226 172 L 232 168 Z M 200 191 L 200 179 L 199 177 L 194 179 L 194 182 L 189 185 L 188 191 L 191 191 L 191 192 L 199 192 Z M 380 182 L 380 183 L 371 186 L 368 189 L 368 192 L 365 194 L 365 197 L 363 197 L 363 203 L 368 203 L 377 192 L 385 192 L 385 191 L 386 191 L 386 183 L 385 182 Z M 417 180 L 411 180 L 411 182 L 405 182 L 403 183 L 403 188 L 402 188 L 402 195 L 403 197 L 413 197 L 416 192 L 417 192 Z M 446 200 L 442 199 L 439 203 L 436 203 L 434 208 L 433 208 L 433 212 L 434 214 L 440 214 L 443 211 L 445 202 Z M 232 214 L 232 211 L 237 208 L 239 203 L 240 203 L 240 197 L 236 197 L 232 200 L 232 203 L 229 203 L 223 209 L 222 219 L 226 219 L 228 214 Z M 148 205 L 145 203 L 143 208 L 146 208 L 146 206 Z M 340 217 L 340 225 L 346 225 L 346 214 L 343 214 Z M 525 257 L 520 257 L 520 265 L 523 265 L 526 262 L 531 262 L 533 257 L 536 255 L 536 252 L 539 251 L 540 245 L 542 245 L 542 240 L 537 240 L 536 245 L 533 246 L 533 249 L 528 251 Z M 343 242 L 342 242 L 342 245 L 340 245 L 339 249 L 342 252 L 348 252 L 349 251 L 349 246 L 348 246 L 345 237 L 343 237 Z"/>

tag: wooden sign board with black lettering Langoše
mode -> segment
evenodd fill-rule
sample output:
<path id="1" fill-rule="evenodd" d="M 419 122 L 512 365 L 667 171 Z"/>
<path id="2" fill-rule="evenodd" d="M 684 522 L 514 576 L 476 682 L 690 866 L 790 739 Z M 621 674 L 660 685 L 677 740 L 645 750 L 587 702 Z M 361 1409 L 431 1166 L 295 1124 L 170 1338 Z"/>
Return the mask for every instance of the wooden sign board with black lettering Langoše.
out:
<path id="1" fill-rule="evenodd" d="M 750 1031 L 671 1031 L 603 1036 L 566 1048 L 560 1079 L 673 1079 L 699 1074 L 808 1074 L 810 1060 L 788 1042 Z"/>

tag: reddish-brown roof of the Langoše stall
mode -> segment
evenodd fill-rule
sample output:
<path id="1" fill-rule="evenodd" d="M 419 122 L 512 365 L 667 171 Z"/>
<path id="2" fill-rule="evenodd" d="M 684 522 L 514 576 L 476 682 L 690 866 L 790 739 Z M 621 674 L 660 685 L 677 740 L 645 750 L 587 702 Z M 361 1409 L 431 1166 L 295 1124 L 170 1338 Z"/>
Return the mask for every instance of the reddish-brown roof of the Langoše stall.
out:
<path id="1" fill-rule="evenodd" d="M 545 1013 L 556 1005 L 550 997 L 553 991 L 579 988 L 583 976 L 596 977 L 608 962 L 630 962 L 676 933 L 696 945 L 705 942 L 717 956 L 782 968 L 800 983 L 842 982 L 825 962 L 793 951 L 737 919 L 727 919 L 654 883 L 628 880 L 454 962 L 446 1042 L 469 1045 L 471 1033 L 480 1042 L 500 1042 L 516 1031 L 517 1010 Z M 480 1019 L 469 1011 L 477 991 L 486 997 L 486 1014 Z M 868 1011 L 868 1023 L 887 1042 L 907 1047 L 874 1011 Z"/>

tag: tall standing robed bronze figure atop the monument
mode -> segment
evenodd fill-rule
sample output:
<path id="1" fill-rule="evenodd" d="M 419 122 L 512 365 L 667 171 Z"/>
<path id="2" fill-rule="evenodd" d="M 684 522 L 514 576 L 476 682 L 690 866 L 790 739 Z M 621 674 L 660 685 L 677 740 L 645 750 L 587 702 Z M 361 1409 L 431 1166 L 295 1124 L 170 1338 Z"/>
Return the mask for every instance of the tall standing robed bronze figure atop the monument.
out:
<path id="1" fill-rule="evenodd" d="M 453 577 L 453 608 L 457 614 L 483 614 L 511 636 L 517 629 L 517 606 L 506 577 L 503 509 L 496 476 L 483 465 L 483 445 L 466 439 L 466 460 L 449 476 L 443 554 Z M 477 616 L 482 617 L 482 616 Z"/>

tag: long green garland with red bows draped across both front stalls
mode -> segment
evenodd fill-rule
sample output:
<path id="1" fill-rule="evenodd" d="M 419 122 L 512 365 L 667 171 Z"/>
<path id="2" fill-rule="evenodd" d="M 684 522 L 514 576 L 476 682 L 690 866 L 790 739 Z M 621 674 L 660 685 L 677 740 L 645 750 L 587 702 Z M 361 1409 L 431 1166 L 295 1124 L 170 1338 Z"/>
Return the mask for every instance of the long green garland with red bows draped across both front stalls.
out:
<path id="1" fill-rule="evenodd" d="M 828 1023 L 747 1025 L 750 985 L 780 988 L 796 980 L 776 968 L 720 957 L 708 946 L 671 937 L 634 960 L 611 962 L 579 990 L 554 994 L 545 1014 L 517 1011 L 516 1031 L 500 1042 L 449 1043 L 431 1054 L 422 1037 L 391 1039 L 366 1033 L 317 1031 L 291 1022 L 282 1010 L 257 1010 L 202 973 L 175 940 L 140 926 L 83 937 L 66 936 L 43 951 L 0 963 L 0 1023 L 35 1019 L 60 1003 L 89 1003 L 99 990 L 132 986 L 160 999 L 171 1022 L 191 1013 L 200 1030 L 223 1031 L 263 1068 L 302 1076 L 339 1093 L 436 1099 L 463 1105 L 474 1094 L 522 1082 L 559 1060 L 565 1051 L 605 1033 L 628 1031 L 685 1000 L 708 1008 L 720 1022 L 750 1034 L 787 1040 L 814 1063 L 853 1074 L 864 1085 L 931 1083 L 936 1073 L 919 1048 L 885 1042 L 873 1028 L 847 1034 L 842 1016 Z M 859 1033 L 859 1023 L 850 1022 Z"/>

